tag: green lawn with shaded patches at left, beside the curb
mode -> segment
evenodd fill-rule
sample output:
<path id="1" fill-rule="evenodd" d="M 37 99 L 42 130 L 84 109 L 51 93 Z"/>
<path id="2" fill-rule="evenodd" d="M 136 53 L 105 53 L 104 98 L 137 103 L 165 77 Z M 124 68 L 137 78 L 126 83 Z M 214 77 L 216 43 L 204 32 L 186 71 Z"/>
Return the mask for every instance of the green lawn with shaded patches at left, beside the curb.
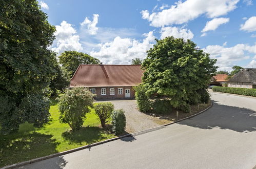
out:
<path id="1" fill-rule="evenodd" d="M 100 128 L 100 120 L 92 109 L 80 131 L 69 132 L 68 124 L 58 121 L 57 101 L 52 99 L 50 121 L 43 128 L 21 124 L 18 133 L 0 135 L 0 167 L 74 149 L 115 137 Z"/>

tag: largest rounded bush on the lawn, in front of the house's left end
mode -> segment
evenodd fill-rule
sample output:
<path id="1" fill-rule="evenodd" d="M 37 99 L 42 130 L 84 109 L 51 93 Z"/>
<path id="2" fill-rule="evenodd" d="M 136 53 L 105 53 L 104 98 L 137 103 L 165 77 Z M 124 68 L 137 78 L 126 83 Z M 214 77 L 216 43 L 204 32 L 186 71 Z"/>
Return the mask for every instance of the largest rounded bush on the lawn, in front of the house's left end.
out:
<path id="1" fill-rule="evenodd" d="M 89 107 L 93 106 L 93 94 L 86 88 L 68 89 L 59 98 L 60 122 L 68 123 L 72 131 L 79 130 L 83 125 Z"/>

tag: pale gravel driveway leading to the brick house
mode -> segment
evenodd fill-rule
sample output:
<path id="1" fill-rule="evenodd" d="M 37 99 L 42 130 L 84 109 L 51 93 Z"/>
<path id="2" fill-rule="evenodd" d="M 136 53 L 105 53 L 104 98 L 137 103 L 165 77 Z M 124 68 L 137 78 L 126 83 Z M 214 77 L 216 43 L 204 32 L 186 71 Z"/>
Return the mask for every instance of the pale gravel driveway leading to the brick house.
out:
<path id="1" fill-rule="evenodd" d="M 126 116 L 126 132 L 134 133 L 160 126 L 157 118 L 152 118 L 137 110 L 136 100 L 107 100 L 96 102 L 111 102 L 116 109 L 123 109 Z"/>

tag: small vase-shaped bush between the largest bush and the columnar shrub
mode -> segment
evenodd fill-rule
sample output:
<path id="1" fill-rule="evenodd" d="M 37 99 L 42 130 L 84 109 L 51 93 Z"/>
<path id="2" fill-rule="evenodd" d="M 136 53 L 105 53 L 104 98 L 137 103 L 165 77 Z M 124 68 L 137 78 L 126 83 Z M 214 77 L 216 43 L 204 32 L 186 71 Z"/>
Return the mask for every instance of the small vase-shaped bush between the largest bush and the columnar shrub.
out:
<path id="1" fill-rule="evenodd" d="M 96 115 L 99 116 L 101 120 L 102 128 L 106 128 L 106 123 L 108 118 L 111 117 L 111 113 L 114 110 L 114 105 L 110 102 L 98 103 L 94 107 Z"/>

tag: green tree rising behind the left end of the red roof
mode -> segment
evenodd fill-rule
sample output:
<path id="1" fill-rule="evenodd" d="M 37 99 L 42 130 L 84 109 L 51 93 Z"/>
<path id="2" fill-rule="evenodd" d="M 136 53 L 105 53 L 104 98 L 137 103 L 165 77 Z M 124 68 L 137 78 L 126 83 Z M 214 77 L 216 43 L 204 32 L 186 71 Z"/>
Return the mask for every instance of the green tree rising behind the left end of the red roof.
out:
<path id="1" fill-rule="evenodd" d="M 60 64 L 71 78 L 80 64 L 100 64 L 100 60 L 83 52 L 65 51 L 60 56 Z"/>

